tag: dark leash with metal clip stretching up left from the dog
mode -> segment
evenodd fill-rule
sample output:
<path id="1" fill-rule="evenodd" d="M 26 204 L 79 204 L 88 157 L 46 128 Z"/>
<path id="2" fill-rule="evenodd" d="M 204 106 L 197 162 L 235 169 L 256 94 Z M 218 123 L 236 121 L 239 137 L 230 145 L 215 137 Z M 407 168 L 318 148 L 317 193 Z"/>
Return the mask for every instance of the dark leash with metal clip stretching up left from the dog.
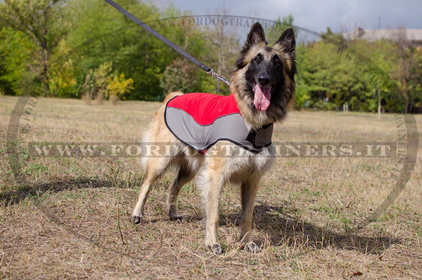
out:
<path id="1" fill-rule="evenodd" d="M 210 67 L 208 67 L 204 63 L 201 63 L 196 58 L 194 58 L 193 56 L 191 56 L 189 53 L 186 53 L 186 51 L 184 51 L 183 49 L 180 49 L 179 46 L 175 45 L 169 39 L 167 39 L 166 37 L 162 36 L 162 34 L 156 32 L 155 30 L 153 30 L 146 23 L 143 23 L 143 21 L 139 20 L 139 18 L 136 18 L 134 15 L 132 15 L 132 13 L 129 13 L 127 10 L 125 10 L 124 8 L 122 8 L 121 6 L 119 6 L 118 4 L 116 4 L 115 1 L 113 1 L 113 0 L 104 0 L 104 1 L 106 1 L 108 4 L 110 4 L 111 6 L 113 6 L 117 11 L 120 11 L 120 13 L 126 15 L 127 18 L 129 18 L 134 23 L 136 23 L 137 25 L 139 25 L 140 27 L 142 27 L 144 30 L 148 31 L 150 34 L 153 34 L 155 37 L 157 37 L 162 42 L 164 42 L 165 44 L 167 44 L 167 46 L 170 46 L 170 48 L 174 49 L 174 51 L 177 51 L 178 53 L 180 53 L 185 58 L 188 58 L 189 61 L 192 61 L 193 63 L 195 63 L 196 65 L 198 65 L 205 72 L 207 72 L 207 74 L 213 75 L 213 76 L 217 77 L 217 79 L 221 79 L 223 82 L 225 82 L 226 84 L 229 84 L 230 85 L 230 82 L 224 76 L 217 74 Z"/>

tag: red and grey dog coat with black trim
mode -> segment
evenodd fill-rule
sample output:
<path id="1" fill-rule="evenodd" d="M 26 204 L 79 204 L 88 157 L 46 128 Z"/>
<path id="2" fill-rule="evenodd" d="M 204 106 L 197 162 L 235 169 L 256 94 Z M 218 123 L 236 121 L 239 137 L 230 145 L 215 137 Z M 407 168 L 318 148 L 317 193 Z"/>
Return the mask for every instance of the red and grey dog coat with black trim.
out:
<path id="1" fill-rule="evenodd" d="M 274 124 L 256 132 L 246 127 L 233 94 L 184 94 L 170 99 L 165 106 L 165 125 L 177 139 L 205 153 L 218 141 L 230 141 L 259 153 L 271 144 Z"/>

